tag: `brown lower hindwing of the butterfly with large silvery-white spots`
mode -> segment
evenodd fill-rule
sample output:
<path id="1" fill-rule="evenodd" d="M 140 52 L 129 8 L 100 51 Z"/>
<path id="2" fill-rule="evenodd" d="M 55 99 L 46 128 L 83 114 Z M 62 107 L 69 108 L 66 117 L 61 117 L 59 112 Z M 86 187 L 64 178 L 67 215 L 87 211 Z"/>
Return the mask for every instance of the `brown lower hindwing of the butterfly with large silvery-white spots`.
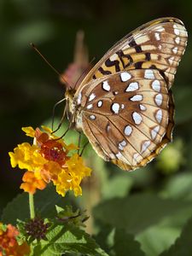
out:
<path id="1" fill-rule="evenodd" d="M 96 153 L 122 169 L 145 166 L 171 140 L 172 94 L 158 70 L 120 72 L 85 84 L 74 98 Z"/>

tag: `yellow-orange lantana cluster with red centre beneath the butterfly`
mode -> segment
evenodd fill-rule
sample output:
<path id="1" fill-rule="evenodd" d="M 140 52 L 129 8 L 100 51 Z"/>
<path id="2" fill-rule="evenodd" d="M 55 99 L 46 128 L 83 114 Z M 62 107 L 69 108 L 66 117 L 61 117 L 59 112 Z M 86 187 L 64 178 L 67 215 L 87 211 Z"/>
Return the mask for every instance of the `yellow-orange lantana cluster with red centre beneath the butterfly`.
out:
<path id="1" fill-rule="evenodd" d="M 90 168 L 84 166 L 78 148 L 66 145 L 60 137 L 42 126 L 34 130 L 31 126 L 22 128 L 26 136 L 33 137 L 33 144 L 22 143 L 9 152 L 11 166 L 26 169 L 22 177 L 20 189 L 34 194 L 36 189 L 44 189 L 48 183 L 54 183 L 58 194 L 64 196 L 68 190 L 74 195 L 82 195 L 80 183 L 84 177 L 90 176 Z M 70 155 L 70 153 L 72 155 Z"/>

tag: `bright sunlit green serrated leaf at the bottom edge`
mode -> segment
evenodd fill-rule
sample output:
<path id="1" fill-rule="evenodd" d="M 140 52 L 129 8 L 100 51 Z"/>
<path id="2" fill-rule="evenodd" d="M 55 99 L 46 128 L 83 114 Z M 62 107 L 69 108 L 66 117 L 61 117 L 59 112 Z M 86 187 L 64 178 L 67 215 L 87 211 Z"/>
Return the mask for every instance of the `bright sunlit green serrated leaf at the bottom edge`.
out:
<path id="1" fill-rule="evenodd" d="M 32 256 L 61 255 L 62 253 L 108 256 L 84 230 L 79 230 L 72 225 L 54 226 L 46 237 L 48 241 L 41 241 L 33 247 Z"/>

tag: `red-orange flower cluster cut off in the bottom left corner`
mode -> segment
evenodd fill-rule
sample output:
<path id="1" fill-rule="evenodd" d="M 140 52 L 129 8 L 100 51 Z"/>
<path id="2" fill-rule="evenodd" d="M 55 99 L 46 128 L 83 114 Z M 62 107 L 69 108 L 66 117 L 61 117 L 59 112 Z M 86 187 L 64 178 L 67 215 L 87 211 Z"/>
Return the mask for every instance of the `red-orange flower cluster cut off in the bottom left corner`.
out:
<path id="1" fill-rule="evenodd" d="M 30 247 L 26 242 L 21 245 L 18 244 L 16 241 L 18 235 L 19 231 L 15 226 L 0 224 L 0 256 L 24 256 L 30 253 Z"/>

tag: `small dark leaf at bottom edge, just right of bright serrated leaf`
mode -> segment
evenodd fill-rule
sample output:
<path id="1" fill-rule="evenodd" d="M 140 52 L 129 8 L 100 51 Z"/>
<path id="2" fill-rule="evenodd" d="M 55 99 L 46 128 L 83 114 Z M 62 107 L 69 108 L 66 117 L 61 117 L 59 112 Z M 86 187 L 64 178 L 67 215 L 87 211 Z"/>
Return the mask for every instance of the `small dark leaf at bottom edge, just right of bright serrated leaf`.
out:
<path id="1" fill-rule="evenodd" d="M 141 245 L 134 240 L 134 236 L 128 234 L 124 229 L 117 229 L 114 233 L 113 247 L 110 255 L 115 256 L 144 256 Z"/>

